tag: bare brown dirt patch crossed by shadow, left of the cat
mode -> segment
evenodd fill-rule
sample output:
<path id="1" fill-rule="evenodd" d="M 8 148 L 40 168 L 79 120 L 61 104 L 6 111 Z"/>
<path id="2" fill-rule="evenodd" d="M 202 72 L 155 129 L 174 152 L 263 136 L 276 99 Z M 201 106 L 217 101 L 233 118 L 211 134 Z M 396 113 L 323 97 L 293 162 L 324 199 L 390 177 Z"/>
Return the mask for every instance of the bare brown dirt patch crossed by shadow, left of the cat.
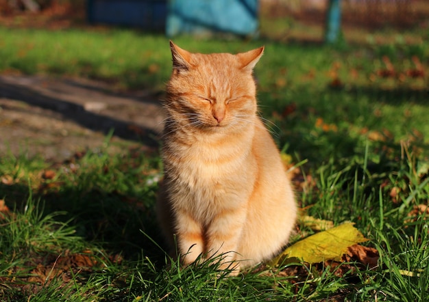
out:
<path id="1" fill-rule="evenodd" d="M 158 148 L 160 98 L 145 91 L 117 94 L 86 79 L 0 76 L 0 154 L 62 161 L 101 148 L 110 131 L 112 152 L 136 143 Z"/>

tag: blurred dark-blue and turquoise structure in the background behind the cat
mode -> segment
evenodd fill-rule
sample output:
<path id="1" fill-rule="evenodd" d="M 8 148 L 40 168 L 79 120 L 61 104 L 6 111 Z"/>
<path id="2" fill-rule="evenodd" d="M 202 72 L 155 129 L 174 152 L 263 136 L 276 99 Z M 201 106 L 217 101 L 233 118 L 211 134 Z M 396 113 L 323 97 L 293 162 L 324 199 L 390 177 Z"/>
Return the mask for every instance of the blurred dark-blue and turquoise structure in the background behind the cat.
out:
<path id="1" fill-rule="evenodd" d="M 258 30 L 258 0 L 88 0 L 88 21 L 180 33 Z"/>

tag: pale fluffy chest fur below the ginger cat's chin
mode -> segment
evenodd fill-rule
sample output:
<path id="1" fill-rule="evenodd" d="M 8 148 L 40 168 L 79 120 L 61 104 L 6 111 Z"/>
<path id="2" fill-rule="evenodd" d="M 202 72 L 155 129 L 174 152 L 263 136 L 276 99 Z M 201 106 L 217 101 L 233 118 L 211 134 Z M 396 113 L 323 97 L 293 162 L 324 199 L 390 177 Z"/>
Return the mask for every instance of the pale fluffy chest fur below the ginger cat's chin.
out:
<path id="1" fill-rule="evenodd" d="M 257 168 L 256 163 L 252 165 L 252 130 L 247 128 L 234 137 L 200 134 L 188 137 L 187 143 L 172 139 L 163 156 L 166 170 L 172 172 L 168 175 L 173 178 L 169 181 L 175 188 L 175 206 L 206 220 L 234 203 L 245 202 Z"/>

